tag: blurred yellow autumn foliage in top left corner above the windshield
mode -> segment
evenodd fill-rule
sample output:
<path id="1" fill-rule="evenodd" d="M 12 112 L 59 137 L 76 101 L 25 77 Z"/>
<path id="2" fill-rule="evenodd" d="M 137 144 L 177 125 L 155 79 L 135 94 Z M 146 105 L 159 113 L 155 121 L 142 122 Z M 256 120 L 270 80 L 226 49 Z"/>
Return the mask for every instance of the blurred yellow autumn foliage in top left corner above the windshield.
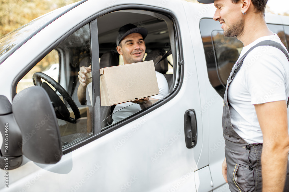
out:
<path id="1" fill-rule="evenodd" d="M 79 0 L 0 0 L 0 37 L 54 9 Z"/>

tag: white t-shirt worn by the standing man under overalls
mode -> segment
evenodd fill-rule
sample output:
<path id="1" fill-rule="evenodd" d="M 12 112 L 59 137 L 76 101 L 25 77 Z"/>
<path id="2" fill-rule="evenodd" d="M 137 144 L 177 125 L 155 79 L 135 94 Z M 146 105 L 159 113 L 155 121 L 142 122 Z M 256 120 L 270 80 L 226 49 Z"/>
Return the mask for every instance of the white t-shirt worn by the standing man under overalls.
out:
<path id="1" fill-rule="evenodd" d="M 261 37 L 243 48 L 239 59 L 254 45 L 264 40 L 280 43 L 277 34 Z M 263 143 L 262 131 L 254 104 L 288 100 L 289 62 L 276 47 L 259 46 L 244 59 L 243 65 L 230 83 L 228 101 L 231 123 L 236 133 L 248 143 Z"/>

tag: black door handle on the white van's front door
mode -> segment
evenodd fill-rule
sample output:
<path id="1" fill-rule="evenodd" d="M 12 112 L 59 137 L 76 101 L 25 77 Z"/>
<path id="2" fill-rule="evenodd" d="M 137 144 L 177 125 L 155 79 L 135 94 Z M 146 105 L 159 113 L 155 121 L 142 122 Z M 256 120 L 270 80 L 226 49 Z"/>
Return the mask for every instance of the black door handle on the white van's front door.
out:
<path id="1" fill-rule="evenodd" d="M 184 118 L 186 147 L 191 149 L 196 146 L 198 138 L 197 119 L 194 109 L 185 112 Z"/>

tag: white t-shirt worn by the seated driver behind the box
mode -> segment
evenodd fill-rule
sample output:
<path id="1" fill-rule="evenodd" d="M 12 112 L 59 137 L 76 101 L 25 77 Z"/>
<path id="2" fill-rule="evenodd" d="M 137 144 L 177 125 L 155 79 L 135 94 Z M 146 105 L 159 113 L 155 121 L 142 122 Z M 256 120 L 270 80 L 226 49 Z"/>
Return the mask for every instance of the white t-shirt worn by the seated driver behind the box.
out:
<path id="1" fill-rule="evenodd" d="M 155 71 L 155 75 L 157 76 L 160 94 L 151 96 L 151 98 L 162 99 L 168 94 L 168 82 L 166 81 L 166 77 L 164 77 L 162 73 Z M 121 110 L 121 111 L 118 111 L 118 110 Z M 122 119 L 125 119 L 137 113 L 138 111 L 141 111 L 141 108 L 140 108 L 140 105 L 137 103 L 125 102 L 125 103 L 117 104 L 113 110 L 112 123 L 116 123 Z"/>

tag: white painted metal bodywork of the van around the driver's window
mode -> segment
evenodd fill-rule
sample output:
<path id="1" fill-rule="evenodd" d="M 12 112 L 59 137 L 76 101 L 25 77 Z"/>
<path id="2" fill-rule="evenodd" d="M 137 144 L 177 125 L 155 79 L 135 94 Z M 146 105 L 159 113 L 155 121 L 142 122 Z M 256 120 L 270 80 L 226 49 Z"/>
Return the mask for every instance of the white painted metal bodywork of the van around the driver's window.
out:
<path id="1" fill-rule="evenodd" d="M 212 4 L 186 1 L 88 0 L 34 35 L 0 65 L 0 95 L 12 103 L 17 76 L 77 24 L 116 6 L 147 5 L 172 12 L 179 25 L 184 75 L 168 102 L 121 128 L 88 142 L 56 164 L 34 163 L 23 156 L 9 170 L 9 188 L 0 191 L 229 191 L 221 172 L 224 160 L 223 98 L 212 87 L 200 33 L 200 20 L 212 18 Z M 287 24 L 287 17 L 266 15 L 266 22 Z M 145 26 L 144 26 L 145 27 Z M 210 32 L 208 32 L 210 33 Z M 186 148 L 184 113 L 196 112 L 198 142 Z M 5 175 L 0 170 L 0 178 Z"/>

